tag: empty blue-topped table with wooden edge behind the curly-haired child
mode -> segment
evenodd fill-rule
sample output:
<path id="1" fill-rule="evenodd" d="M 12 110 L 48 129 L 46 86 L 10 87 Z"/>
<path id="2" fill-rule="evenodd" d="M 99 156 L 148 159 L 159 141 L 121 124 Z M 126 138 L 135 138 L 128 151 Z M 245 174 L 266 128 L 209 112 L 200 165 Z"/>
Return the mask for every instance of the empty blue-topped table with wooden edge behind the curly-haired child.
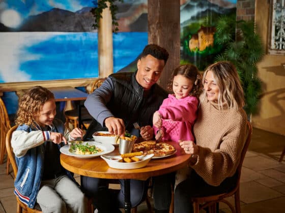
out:
<path id="1" fill-rule="evenodd" d="M 54 94 L 55 101 L 85 100 L 88 96 L 86 92 L 73 87 L 50 88 L 49 90 Z"/>

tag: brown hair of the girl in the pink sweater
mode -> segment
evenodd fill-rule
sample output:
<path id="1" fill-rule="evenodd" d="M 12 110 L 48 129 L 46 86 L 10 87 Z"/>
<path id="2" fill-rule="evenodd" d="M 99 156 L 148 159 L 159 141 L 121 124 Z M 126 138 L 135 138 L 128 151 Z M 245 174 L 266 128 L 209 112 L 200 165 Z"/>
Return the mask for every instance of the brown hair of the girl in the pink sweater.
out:
<path id="1" fill-rule="evenodd" d="M 202 76 L 199 73 L 198 68 L 192 64 L 180 65 L 176 69 L 174 69 L 170 81 L 167 85 L 167 89 L 170 92 L 173 92 L 173 79 L 177 75 L 182 75 L 192 81 L 193 87 L 189 95 L 198 97 L 203 92 Z"/>

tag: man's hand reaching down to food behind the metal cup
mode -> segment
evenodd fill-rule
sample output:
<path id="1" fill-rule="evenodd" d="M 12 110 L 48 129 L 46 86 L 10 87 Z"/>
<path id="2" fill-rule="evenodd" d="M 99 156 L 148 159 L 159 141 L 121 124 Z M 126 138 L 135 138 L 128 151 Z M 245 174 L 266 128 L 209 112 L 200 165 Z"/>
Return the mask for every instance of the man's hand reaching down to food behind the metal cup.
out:
<path id="1" fill-rule="evenodd" d="M 108 128 L 110 134 L 125 136 L 125 124 L 123 119 L 109 117 L 105 119 L 105 126 Z"/>

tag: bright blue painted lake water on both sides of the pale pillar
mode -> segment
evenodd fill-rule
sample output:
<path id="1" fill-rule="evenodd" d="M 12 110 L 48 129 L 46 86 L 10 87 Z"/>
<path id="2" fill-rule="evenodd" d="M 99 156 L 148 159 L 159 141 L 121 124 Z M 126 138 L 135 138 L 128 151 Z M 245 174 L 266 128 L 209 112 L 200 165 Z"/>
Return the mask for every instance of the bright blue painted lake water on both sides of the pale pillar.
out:
<path id="1" fill-rule="evenodd" d="M 148 44 L 147 32 L 113 33 L 113 70 L 131 63 Z M 26 47 L 24 52 L 39 59 L 20 63 L 31 81 L 98 77 L 97 33 L 66 33 Z"/>

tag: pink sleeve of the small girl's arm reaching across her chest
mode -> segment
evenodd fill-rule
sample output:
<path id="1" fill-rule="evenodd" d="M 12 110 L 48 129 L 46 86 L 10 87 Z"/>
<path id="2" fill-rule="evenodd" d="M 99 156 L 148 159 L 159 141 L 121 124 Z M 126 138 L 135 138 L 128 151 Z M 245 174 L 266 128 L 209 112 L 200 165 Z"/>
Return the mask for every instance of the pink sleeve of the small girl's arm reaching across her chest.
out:
<path id="1" fill-rule="evenodd" d="M 189 96 L 184 101 L 177 101 L 171 105 L 169 104 L 169 100 L 164 101 L 158 112 L 163 119 L 193 122 L 196 119 L 197 105 L 198 99 Z"/>

